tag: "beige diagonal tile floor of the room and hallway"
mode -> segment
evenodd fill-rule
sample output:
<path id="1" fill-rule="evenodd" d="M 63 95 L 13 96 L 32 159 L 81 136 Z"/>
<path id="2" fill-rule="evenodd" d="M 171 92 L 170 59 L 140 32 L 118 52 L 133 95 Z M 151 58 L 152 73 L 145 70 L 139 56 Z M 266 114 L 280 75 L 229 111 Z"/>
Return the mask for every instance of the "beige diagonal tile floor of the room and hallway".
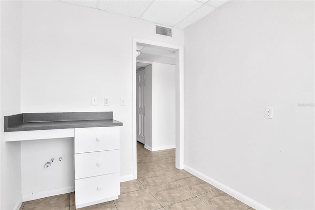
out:
<path id="1" fill-rule="evenodd" d="M 151 152 L 137 142 L 138 179 L 121 183 L 119 199 L 80 210 L 253 210 L 175 168 L 175 149 Z M 74 192 L 23 202 L 20 210 L 75 210 Z"/>

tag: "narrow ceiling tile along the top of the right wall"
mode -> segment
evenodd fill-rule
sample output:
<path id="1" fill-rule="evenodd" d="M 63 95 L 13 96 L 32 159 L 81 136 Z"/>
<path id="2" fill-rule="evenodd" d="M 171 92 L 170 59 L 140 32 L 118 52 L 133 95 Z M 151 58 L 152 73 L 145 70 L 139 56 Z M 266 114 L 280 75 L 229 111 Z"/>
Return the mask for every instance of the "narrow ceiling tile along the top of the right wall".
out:
<path id="1" fill-rule="evenodd" d="M 210 5 L 204 4 L 199 9 L 194 11 L 191 15 L 189 15 L 187 18 L 179 22 L 175 25 L 175 27 L 180 29 L 185 29 L 186 27 L 190 26 L 191 24 L 199 21 L 200 19 L 204 18 L 208 14 L 210 14 L 212 11 L 214 11 L 215 8 L 213 8 Z"/>

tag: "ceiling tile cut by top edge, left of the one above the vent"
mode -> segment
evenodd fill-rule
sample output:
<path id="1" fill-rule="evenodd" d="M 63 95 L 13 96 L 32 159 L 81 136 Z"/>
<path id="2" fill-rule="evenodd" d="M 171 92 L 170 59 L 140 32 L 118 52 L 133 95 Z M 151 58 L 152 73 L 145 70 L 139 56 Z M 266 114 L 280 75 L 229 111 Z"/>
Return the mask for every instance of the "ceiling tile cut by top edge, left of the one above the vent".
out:
<path id="1" fill-rule="evenodd" d="M 153 0 L 100 0 L 98 8 L 126 16 L 139 18 Z"/>

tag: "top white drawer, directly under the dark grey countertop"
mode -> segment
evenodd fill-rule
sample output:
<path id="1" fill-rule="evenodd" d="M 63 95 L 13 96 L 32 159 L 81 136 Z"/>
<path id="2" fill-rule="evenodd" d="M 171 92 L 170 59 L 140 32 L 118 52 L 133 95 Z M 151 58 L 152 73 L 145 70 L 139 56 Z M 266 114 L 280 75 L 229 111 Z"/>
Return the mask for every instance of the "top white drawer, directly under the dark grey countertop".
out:
<path id="1" fill-rule="evenodd" d="M 119 127 L 74 129 L 74 153 L 119 149 Z"/>

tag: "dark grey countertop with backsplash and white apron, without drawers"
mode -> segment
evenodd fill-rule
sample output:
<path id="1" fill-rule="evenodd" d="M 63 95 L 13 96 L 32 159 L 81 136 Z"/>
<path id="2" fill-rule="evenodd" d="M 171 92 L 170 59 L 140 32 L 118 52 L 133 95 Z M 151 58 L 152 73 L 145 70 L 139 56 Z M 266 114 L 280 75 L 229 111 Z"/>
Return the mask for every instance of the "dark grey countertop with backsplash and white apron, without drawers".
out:
<path id="1" fill-rule="evenodd" d="M 22 113 L 4 117 L 5 141 L 74 137 L 74 128 L 122 126 L 113 112 Z"/>

